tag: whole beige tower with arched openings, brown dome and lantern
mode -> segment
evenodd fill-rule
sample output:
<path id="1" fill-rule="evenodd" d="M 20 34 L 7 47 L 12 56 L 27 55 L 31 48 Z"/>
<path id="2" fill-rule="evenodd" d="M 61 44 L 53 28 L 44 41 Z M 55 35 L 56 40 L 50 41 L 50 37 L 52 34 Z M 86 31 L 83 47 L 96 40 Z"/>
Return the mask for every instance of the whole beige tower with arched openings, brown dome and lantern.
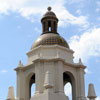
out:
<path id="1" fill-rule="evenodd" d="M 57 32 L 58 18 L 51 11 L 51 7 L 47 10 L 41 19 L 42 34 L 27 53 L 27 64 L 23 65 L 20 61 L 15 68 L 16 98 L 17 100 L 69 100 L 64 93 L 64 86 L 69 82 L 72 86 L 72 100 L 87 100 L 84 82 L 86 66 L 81 59 L 78 63 L 73 62 L 74 51 Z M 35 84 L 34 95 L 31 95 L 32 84 Z M 9 89 L 13 91 L 12 87 Z M 15 100 L 14 95 L 10 94 L 14 93 L 9 92 L 7 100 Z M 93 85 L 89 87 L 88 98 L 90 100 L 96 98 Z"/>

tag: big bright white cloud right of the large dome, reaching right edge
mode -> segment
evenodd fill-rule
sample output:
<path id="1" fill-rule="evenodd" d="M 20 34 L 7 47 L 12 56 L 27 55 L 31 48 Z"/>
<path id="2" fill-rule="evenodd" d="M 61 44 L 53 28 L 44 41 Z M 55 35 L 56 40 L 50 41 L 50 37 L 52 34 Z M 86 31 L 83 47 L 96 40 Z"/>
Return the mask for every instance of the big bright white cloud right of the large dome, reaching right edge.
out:
<path id="1" fill-rule="evenodd" d="M 72 36 L 70 47 L 75 51 L 75 61 L 82 58 L 85 62 L 90 57 L 100 56 L 100 28 L 92 29 L 81 36 Z"/>

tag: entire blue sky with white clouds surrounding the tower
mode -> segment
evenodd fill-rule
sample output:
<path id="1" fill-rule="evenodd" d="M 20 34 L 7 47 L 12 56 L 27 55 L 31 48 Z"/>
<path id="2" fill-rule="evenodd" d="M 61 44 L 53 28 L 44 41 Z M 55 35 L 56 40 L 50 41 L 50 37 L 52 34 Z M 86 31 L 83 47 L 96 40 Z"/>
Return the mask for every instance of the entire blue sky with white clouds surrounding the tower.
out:
<path id="1" fill-rule="evenodd" d="M 94 83 L 100 100 L 100 0 L 0 0 L 0 100 L 6 99 L 9 86 L 16 89 L 13 69 L 19 60 L 27 63 L 48 6 L 59 18 L 58 33 L 75 51 L 74 61 L 81 58 L 87 66 L 86 96 L 88 84 Z"/>

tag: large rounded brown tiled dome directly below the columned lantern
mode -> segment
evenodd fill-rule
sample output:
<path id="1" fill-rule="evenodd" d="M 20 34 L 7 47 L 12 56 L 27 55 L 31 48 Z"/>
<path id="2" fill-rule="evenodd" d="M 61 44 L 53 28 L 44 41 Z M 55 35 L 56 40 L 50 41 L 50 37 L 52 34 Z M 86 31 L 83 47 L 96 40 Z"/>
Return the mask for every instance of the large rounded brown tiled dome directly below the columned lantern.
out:
<path id="1" fill-rule="evenodd" d="M 46 33 L 41 35 L 32 45 L 31 49 L 40 45 L 60 45 L 69 48 L 67 42 L 58 34 Z"/>

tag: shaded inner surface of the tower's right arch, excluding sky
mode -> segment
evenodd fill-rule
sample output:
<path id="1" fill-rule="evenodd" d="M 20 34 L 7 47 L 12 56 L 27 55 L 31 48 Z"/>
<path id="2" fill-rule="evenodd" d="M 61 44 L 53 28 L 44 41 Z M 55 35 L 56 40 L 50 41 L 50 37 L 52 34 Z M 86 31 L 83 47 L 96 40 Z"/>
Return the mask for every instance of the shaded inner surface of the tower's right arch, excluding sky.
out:
<path id="1" fill-rule="evenodd" d="M 63 85 L 65 86 L 65 84 L 70 83 L 72 86 L 72 100 L 76 100 L 76 82 L 75 82 L 75 77 L 74 75 L 69 72 L 69 71 L 65 71 L 63 73 Z"/>

